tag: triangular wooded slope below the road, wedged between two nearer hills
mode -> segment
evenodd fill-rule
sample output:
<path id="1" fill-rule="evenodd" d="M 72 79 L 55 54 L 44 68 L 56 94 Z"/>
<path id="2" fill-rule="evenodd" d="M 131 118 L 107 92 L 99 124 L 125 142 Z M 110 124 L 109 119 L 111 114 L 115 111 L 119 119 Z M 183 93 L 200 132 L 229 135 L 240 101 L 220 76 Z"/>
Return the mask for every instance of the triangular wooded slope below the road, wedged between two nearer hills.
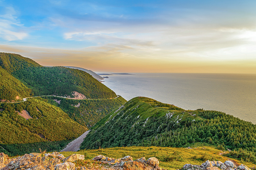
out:
<path id="1" fill-rule="evenodd" d="M 88 128 L 92 127 L 112 110 L 127 102 L 121 96 L 116 99 L 92 100 L 72 100 L 55 96 L 46 96 L 43 98 L 47 98 L 48 103 L 60 107 L 70 118 Z M 61 100 L 60 104 L 55 100 Z"/>

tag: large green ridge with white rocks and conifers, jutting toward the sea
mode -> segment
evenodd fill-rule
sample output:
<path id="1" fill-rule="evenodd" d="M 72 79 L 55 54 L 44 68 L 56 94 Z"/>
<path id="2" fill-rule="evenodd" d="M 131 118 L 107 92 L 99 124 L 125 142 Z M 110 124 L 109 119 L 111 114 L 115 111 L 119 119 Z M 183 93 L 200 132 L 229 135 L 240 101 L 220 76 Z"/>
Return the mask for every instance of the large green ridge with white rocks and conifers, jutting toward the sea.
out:
<path id="1" fill-rule="evenodd" d="M 188 147 L 205 142 L 237 150 L 234 157 L 255 162 L 256 125 L 217 111 L 185 111 L 136 97 L 95 124 L 80 149 L 100 146 Z M 240 149 L 239 149 L 240 148 Z"/>

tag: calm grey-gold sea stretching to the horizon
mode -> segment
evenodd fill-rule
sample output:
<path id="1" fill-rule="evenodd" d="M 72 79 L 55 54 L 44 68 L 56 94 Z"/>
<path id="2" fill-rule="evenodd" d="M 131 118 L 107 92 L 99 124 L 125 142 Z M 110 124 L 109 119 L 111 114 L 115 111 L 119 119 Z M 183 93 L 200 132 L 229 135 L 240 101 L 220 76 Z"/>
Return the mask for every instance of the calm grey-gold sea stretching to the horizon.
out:
<path id="1" fill-rule="evenodd" d="M 126 100 L 145 96 L 183 109 L 217 110 L 256 124 L 256 74 L 134 73 L 108 75 Z"/>

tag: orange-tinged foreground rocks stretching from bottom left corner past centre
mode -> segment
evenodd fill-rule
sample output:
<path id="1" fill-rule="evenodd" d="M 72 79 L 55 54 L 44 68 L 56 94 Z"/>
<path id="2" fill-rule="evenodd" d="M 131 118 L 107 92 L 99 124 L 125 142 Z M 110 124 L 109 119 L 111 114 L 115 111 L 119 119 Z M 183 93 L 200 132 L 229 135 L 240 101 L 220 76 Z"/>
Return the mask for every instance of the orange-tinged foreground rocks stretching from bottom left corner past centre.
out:
<path id="1" fill-rule="evenodd" d="M 119 159 L 98 155 L 92 159 L 93 163 L 84 161 L 86 166 L 81 166 L 78 162 L 83 160 L 84 155 L 73 154 L 65 158 L 59 152 L 30 153 L 12 159 L 0 153 L 0 170 L 164 170 L 155 157 L 133 161 L 129 155 Z"/>

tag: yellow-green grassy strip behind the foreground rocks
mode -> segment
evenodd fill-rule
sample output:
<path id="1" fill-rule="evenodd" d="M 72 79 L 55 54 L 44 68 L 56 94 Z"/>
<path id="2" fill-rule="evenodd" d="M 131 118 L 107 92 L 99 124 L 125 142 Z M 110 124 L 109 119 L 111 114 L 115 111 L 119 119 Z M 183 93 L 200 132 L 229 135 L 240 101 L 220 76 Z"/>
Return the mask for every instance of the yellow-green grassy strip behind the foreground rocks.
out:
<path id="1" fill-rule="evenodd" d="M 198 143 L 197 145 L 201 145 Z M 194 149 L 174 148 L 174 147 L 114 147 L 96 150 L 80 150 L 78 152 L 62 152 L 66 157 L 72 154 L 85 155 L 85 159 L 89 161 L 97 155 L 105 155 L 111 158 L 122 158 L 126 155 L 132 156 L 133 160 L 141 157 L 146 159 L 156 157 L 160 162 L 160 167 L 175 170 L 180 169 L 185 164 L 202 164 L 206 160 L 219 160 L 223 163 L 228 160 L 227 157 L 219 155 L 221 150 L 213 146 L 201 146 Z M 249 168 L 255 164 L 243 162 L 236 159 L 239 164 L 245 164 Z"/>

